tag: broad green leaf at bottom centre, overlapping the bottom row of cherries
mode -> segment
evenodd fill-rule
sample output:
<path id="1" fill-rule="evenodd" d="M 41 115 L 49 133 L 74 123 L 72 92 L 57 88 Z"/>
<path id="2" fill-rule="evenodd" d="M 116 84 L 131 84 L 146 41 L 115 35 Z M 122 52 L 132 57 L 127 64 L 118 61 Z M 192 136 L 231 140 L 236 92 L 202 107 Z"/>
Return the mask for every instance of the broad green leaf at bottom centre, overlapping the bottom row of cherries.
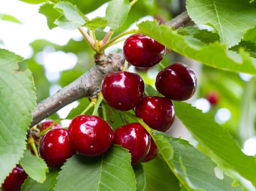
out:
<path id="1" fill-rule="evenodd" d="M 61 167 L 54 190 L 136 190 L 128 150 L 113 145 L 102 156 L 75 155 Z"/>

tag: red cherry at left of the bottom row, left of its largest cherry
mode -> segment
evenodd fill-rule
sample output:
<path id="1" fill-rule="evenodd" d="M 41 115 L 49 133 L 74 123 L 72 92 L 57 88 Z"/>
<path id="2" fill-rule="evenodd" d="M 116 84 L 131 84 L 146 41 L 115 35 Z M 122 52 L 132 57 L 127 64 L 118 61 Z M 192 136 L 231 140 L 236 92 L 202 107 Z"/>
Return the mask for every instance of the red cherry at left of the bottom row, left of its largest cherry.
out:
<path id="1" fill-rule="evenodd" d="M 51 129 L 40 140 L 39 156 L 48 166 L 61 166 L 74 153 L 66 129 Z"/>

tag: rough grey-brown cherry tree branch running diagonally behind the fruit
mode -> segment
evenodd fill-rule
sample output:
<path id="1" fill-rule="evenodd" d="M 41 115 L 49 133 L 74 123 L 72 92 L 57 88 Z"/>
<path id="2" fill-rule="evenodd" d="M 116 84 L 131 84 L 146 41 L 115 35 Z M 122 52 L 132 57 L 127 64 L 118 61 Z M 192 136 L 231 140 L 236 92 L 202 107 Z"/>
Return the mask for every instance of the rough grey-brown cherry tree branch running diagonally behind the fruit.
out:
<path id="1" fill-rule="evenodd" d="M 166 25 L 178 28 L 190 22 L 189 15 L 184 12 L 167 22 Z M 108 56 L 96 53 L 94 59 L 95 65 L 93 68 L 77 80 L 37 104 L 35 110 L 32 111 L 33 120 L 30 125 L 31 127 L 67 104 L 83 97 L 96 97 L 97 93 L 100 92 L 99 86 L 103 77 L 111 71 L 120 71 L 124 67 L 124 56 L 122 52 L 110 53 Z"/>

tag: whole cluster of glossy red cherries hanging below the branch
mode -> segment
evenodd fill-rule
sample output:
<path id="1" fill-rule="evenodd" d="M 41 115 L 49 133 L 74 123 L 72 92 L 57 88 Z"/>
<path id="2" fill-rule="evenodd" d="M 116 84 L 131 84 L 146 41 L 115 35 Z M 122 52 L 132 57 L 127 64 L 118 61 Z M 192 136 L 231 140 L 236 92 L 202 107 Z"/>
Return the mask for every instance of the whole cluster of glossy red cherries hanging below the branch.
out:
<path id="1" fill-rule="evenodd" d="M 146 35 L 133 34 L 124 42 L 123 53 L 127 62 L 135 67 L 150 68 L 162 61 L 166 47 Z M 101 83 L 101 93 L 111 108 L 121 111 L 133 109 L 135 115 L 150 128 L 167 132 L 175 118 L 172 100 L 182 101 L 192 97 L 196 91 L 196 83 L 194 71 L 184 64 L 173 63 L 156 76 L 156 89 L 164 97 L 144 97 L 143 79 L 129 71 L 107 74 Z M 44 121 L 37 128 L 42 131 L 52 123 L 53 121 Z M 75 153 L 97 157 L 112 144 L 129 150 L 132 165 L 148 162 L 158 154 L 155 142 L 140 123 L 125 124 L 113 130 L 102 118 L 90 115 L 76 116 L 67 129 L 61 128 L 58 123 L 52 125 L 42 136 L 38 151 L 48 166 L 61 166 Z M 5 182 L 2 188 L 8 190 L 4 189 Z"/>

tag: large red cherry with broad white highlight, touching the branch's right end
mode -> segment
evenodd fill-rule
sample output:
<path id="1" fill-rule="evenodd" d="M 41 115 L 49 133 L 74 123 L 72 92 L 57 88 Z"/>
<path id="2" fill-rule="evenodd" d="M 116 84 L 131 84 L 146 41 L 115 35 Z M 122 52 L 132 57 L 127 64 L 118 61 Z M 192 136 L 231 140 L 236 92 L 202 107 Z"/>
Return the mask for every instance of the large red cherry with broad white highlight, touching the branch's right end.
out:
<path id="1" fill-rule="evenodd" d="M 138 74 L 116 71 L 104 77 L 101 92 L 112 108 L 127 111 L 140 102 L 144 87 L 144 81 Z"/>

